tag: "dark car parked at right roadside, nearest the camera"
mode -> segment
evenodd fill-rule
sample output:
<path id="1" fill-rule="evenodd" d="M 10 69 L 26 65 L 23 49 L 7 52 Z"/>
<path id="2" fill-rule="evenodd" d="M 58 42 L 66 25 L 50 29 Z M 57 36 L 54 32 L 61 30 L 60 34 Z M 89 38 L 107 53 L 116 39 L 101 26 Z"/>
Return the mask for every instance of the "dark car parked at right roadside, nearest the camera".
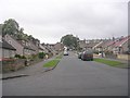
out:
<path id="1" fill-rule="evenodd" d="M 91 50 L 86 50 L 81 53 L 81 60 L 83 61 L 93 61 L 93 52 Z"/>

